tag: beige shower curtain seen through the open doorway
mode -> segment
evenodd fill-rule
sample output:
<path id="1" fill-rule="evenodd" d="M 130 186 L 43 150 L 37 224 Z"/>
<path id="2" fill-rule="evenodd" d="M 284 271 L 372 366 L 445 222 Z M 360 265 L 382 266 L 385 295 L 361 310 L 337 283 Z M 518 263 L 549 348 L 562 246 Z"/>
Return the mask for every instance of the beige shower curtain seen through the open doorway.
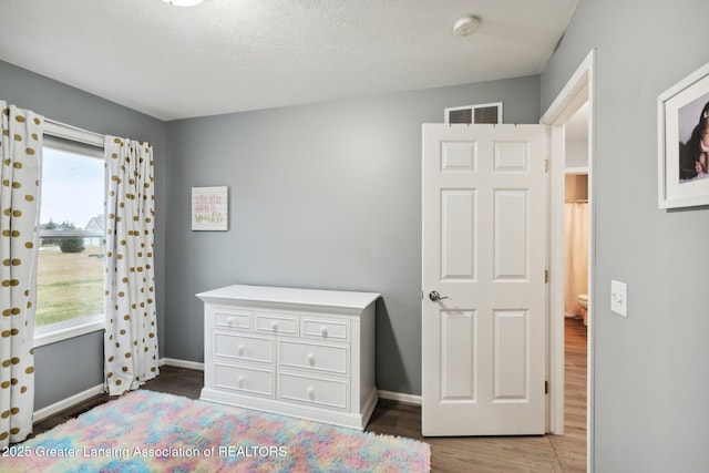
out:
<path id="1" fill-rule="evenodd" d="M 565 205 L 564 313 L 580 315 L 577 296 L 588 294 L 588 204 Z"/>

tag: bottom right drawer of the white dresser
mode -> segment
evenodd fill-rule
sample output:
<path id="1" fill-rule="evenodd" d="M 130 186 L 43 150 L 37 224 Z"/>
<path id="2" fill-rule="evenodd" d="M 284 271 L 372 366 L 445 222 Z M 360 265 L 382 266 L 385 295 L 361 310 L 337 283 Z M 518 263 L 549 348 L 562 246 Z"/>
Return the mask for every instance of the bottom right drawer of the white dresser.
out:
<path id="1" fill-rule="evenodd" d="M 278 399 L 346 410 L 349 408 L 347 384 L 345 380 L 309 378 L 281 372 L 278 380 Z"/>

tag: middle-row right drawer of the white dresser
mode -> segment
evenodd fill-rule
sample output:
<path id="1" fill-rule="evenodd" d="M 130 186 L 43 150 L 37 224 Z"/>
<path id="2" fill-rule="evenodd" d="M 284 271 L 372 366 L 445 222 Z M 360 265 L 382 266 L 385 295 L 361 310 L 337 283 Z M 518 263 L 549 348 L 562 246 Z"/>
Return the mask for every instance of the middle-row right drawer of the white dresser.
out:
<path id="1" fill-rule="evenodd" d="M 281 367 L 347 374 L 347 345 L 317 345 L 297 340 L 278 340 L 278 363 Z"/>

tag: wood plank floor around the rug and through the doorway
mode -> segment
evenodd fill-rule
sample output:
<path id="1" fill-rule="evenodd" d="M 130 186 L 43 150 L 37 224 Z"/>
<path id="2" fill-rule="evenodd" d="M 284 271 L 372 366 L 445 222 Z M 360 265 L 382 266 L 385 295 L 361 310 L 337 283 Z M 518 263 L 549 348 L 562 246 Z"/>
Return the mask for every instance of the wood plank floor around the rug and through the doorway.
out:
<path id="1" fill-rule="evenodd" d="M 161 368 L 142 389 L 192 399 L 199 397 L 201 371 Z M 99 395 L 34 425 L 34 434 L 106 402 Z M 586 471 L 586 327 L 566 319 L 565 435 L 422 438 L 421 407 L 380 400 L 367 426 L 370 432 L 408 436 L 431 445 L 433 472 L 585 472 Z"/>

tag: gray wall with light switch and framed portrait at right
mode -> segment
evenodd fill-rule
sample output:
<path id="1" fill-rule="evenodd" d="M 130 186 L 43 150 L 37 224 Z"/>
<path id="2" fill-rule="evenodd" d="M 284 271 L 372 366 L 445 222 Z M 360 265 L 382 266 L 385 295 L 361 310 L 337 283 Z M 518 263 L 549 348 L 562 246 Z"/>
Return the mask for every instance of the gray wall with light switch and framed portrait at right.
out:
<path id="1" fill-rule="evenodd" d="M 595 464 L 709 464 L 709 208 L 657 208 L 657 96 L 708 60 L 706 0 L 582 0 L 542 74 L 542 111 L 597 48 Z M 628 318 L 610 311 L 628 284 Z"/>

